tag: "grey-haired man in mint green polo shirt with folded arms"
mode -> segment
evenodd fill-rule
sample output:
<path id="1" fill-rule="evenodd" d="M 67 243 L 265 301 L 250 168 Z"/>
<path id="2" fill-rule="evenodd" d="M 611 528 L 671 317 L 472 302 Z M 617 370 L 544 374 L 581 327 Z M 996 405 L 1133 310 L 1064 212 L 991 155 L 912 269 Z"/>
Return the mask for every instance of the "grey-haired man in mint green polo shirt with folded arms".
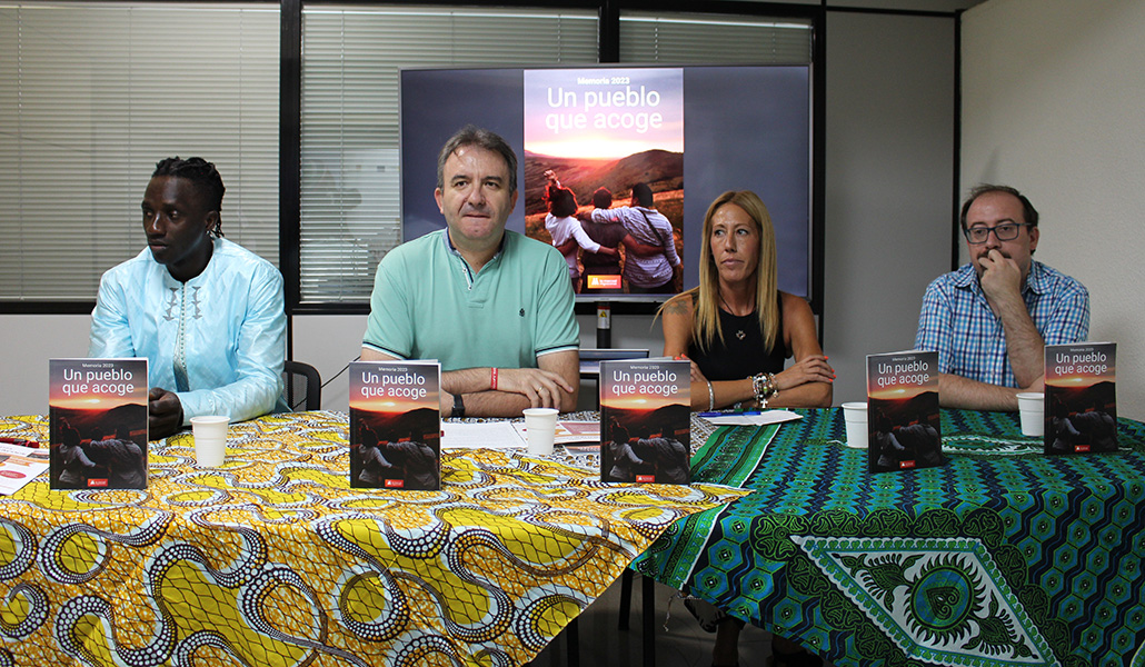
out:
<path id="1" fill-rule="evenodd" d="M 444 416 L 576 406 L 581 331 L 568 265 L 553 246 L 505 230 L 516 194 L 513 149 L 461 128 L 437 157 L 447 229 L 378 264 L 362 359 L 440 360 Z"/>

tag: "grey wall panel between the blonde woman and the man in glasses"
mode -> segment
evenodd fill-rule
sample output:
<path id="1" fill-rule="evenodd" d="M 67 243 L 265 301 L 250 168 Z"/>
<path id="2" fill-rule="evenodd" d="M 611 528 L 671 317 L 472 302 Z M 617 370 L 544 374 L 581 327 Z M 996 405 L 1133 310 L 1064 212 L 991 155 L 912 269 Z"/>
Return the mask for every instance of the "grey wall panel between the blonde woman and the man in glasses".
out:
<path id="1" fill-rule="evenodd" d="M 914 347 L 923 292 L 950 269 L 954 29 L 827 14 L 823 351 L 836 405 L 867 396 L 867 355 Z"/>

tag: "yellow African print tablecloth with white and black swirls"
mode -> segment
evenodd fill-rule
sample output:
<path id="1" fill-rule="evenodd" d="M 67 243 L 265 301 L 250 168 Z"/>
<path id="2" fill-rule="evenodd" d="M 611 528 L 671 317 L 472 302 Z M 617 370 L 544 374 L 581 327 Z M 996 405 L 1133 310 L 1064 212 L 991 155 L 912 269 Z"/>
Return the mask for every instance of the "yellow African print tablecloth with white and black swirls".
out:
<path id="1" fill-rule="evenodd" d="M 47 439 L 41 416 L 0 436 Z M 679 517 L 743 492 L 605 485 L 447 451 L 439 492 L 350 489 L 347 418 L 151 443 L 147 491 L 0 498 L 0 665 L 520 665 Z"/>

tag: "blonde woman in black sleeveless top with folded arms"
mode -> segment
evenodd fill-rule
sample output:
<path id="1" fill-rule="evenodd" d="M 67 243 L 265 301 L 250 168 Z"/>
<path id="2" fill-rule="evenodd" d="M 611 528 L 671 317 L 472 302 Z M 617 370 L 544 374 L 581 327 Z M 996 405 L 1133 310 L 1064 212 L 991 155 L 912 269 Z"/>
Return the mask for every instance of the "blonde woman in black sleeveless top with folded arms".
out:
<path id="1" fill-rule="evenodd" d="M 692 360 L 692 408 L 829 407 L 835 371 L 807 302 L 779 289 L 775 230 L 755 192 L 720 194 L 704 216 L 700 286 L 661 308 L 664 355 Z M 784 368 L 784 360 L 795 363 Z M 689 604 L 716 628 L 712 665 L 739 664 L 743 621 Z M 706 622 L 705 622 L 706 621 Z M 775 667 L 821 665 L 775 636 Z"/>

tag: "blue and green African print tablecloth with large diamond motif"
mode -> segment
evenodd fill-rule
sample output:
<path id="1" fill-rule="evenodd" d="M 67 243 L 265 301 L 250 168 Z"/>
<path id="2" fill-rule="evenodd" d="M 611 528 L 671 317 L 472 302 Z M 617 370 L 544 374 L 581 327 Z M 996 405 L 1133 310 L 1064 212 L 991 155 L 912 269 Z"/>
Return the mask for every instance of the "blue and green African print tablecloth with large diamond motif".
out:
<path id="1" fill-rule="evenodd" d="M 941 468 L 867 471 L 837 410 L 724 428 L 693 477 L 756 491 L 634 564 L 838 667 L 1145 666 L 1145 424 L 1045 456 L 1016 414 L 942 412 Z"/>

